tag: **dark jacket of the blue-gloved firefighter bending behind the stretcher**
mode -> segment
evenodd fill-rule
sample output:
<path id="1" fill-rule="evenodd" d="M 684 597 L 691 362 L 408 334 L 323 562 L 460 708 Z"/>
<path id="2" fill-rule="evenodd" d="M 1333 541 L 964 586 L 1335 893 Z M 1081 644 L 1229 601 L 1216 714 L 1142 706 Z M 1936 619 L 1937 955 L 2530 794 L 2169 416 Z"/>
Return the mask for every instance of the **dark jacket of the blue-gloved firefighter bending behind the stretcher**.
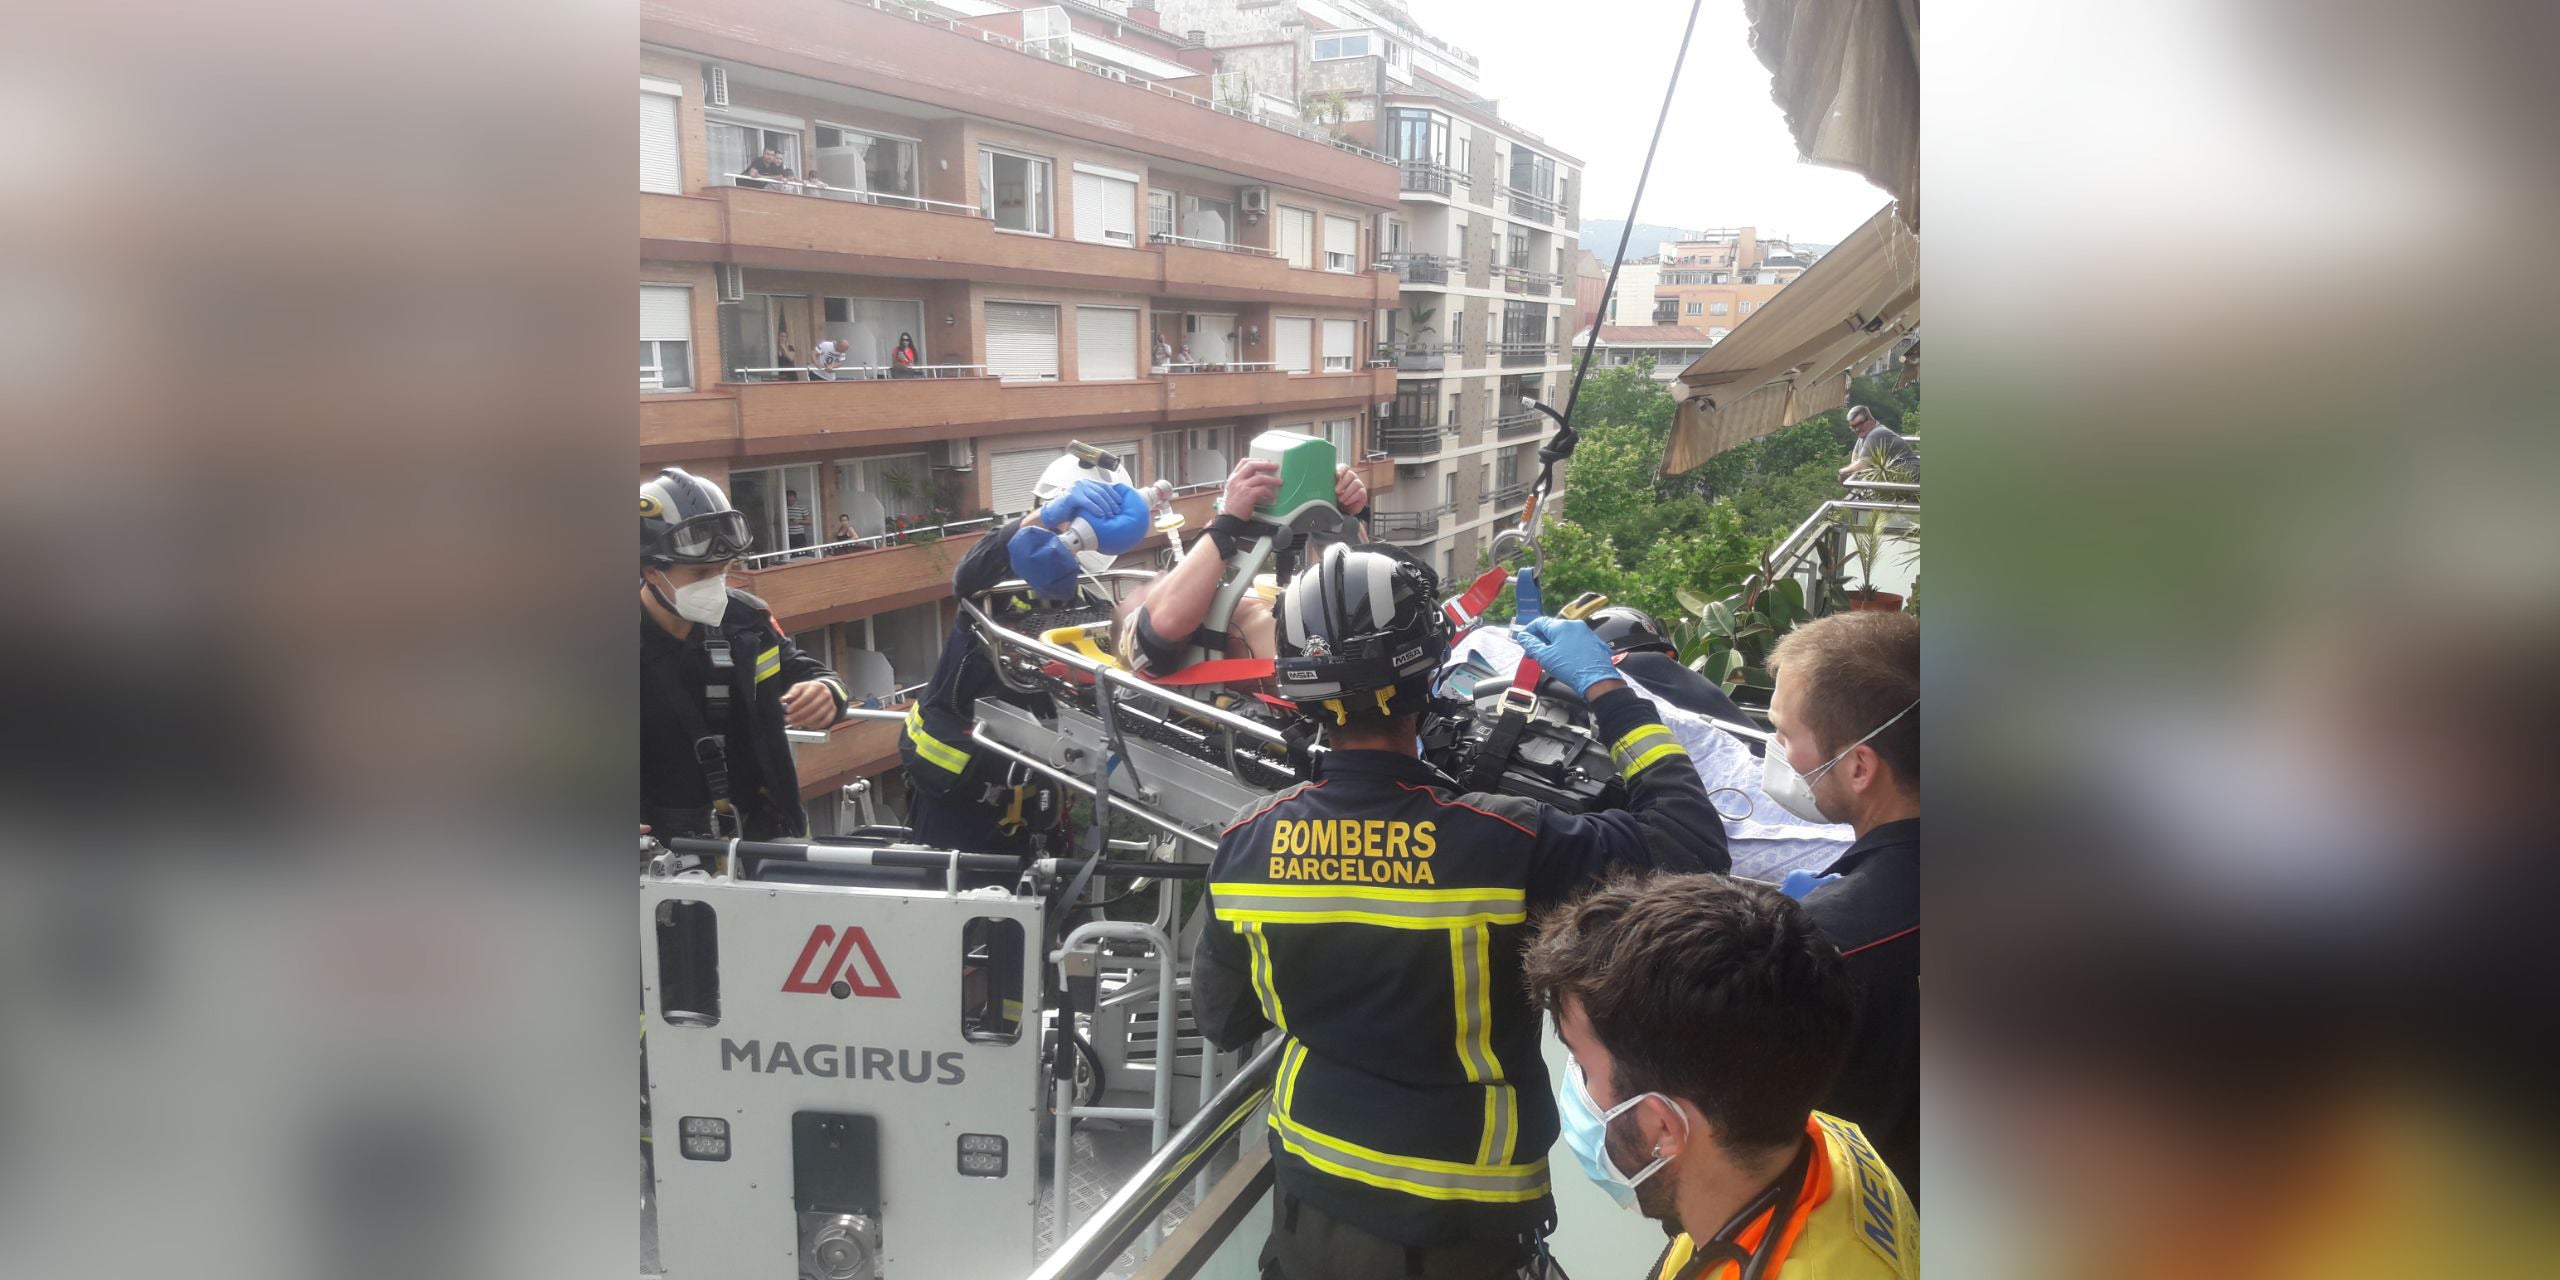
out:
<path id="1" fill-rule="evenodd" d="M 1021 520 L 1009 520 L 960 558 L 952 573 L 952 591 L 975 599 L 988 586 L 1014 576 L 1006 545 Z M 1021 596 L 996 602 L 996 620 L 1029 609 Z M 978 748 L 978 699 L 998 699 L 1037 717 L 1055 717 L 1057 707 L 1047 694 L 1019 694 L 996 676 L 996 663 L 978 643 L 968 620 L 952 622 L 942 640 L 942 660 L 924 696 L 906 712 L 906 732 L 899 735 L 899 760 L 906 765 L 906 827 L 934 847 L 965 852 L 1024 852 L 1034 832 L 1024 829 L 1014 814 L 1019 804 L 1034 812 L 1065 806 L 1016 791 L 1009 760 Z"/>

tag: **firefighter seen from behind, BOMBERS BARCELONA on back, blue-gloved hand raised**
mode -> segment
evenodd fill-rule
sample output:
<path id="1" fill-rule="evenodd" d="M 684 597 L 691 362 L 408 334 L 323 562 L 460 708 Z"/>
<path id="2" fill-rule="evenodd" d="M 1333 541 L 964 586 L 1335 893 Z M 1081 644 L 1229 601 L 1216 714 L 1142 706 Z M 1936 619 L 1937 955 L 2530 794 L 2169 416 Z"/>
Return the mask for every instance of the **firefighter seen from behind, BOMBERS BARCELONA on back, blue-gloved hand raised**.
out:
<path id="1" fill-rule="evenodd" d="M 1610 868 L 1728 870 L 1723 822 L 1582 622 L 1523 650 L 1580 694 L 1633 801 L 1567 814 L 1462 794 L 1416 758 L 1449 632 L 1434 573 L 1331 545 L 1277 604 L 1277 686 L 1324 727 L 1316 778 L 1236 817 L 1193 965 L 1203 1034 L 1288 1042 L 1262 1275 L 1526 1275 L 1554 1226 L 1556 1103 L 1521 980 L 1528 919 Z"/>

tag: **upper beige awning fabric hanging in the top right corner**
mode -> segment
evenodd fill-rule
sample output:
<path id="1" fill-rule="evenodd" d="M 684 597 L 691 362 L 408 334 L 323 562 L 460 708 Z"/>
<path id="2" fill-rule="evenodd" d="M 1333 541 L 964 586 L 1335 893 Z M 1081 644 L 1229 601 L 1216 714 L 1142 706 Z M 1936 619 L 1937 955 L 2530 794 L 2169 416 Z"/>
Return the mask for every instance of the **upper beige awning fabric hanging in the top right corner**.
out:
<path id="1" fill-rule="evenodd" d="M 1864 174 L 1920 230 L 1920 0 L 1743 0 L 1795 148 Z"/>

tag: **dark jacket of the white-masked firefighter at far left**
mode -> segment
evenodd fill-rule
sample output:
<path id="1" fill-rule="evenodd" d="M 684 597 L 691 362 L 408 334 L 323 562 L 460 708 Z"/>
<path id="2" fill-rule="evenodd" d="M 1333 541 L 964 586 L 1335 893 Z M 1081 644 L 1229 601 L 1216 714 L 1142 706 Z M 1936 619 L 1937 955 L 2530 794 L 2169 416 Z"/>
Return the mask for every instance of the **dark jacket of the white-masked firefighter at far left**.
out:
<path id="1" fill-rule="evenodd" d="M 799 768 L 791 763 L 791 737 L 783 724 L 783 691 L 819 681 L 835 691 L 842 712 L 852 699 L 827 663 L 799 650 L 773 625 L 765 602 L 730 591 L 730 612 L 719 620 L 730 666 L 714 668 L 704 637 L 694 627 L 673 637 L 640 614 L 640 822 L 653 835 L 714 835 L 714 786 L 727 791 L 748 840 L 804 837 L 809 814 L 799 801 Z M 714 724 L 709 689 L 727 686 L 727 724 Z M 719 768 L 704 768 L 696 742 L 722 740 Z M 722 832 L 724 835 L 724 832 Z"/>

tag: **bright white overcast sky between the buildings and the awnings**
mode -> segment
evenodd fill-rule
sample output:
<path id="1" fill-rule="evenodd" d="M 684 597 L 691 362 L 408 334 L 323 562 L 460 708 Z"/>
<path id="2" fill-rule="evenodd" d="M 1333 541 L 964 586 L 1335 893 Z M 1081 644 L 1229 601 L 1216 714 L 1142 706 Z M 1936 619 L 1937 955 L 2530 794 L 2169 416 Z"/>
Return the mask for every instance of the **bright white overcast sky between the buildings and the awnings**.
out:
<path id="1" fill-rule="evenodd" d="M 1503 118 L 1582 159 L 1582 218 L 1626 218 L 1687 0 L 1405 0 L 1434 36 L 1477 56 Z M 1838 243 L 1884 192 L 1805 164 L 1769 100 L 1741 0 L 1705 0 L 1638 223 L 1756 225 Z M 1585 243 L 1603 261 L 1615 243 Z"/>

